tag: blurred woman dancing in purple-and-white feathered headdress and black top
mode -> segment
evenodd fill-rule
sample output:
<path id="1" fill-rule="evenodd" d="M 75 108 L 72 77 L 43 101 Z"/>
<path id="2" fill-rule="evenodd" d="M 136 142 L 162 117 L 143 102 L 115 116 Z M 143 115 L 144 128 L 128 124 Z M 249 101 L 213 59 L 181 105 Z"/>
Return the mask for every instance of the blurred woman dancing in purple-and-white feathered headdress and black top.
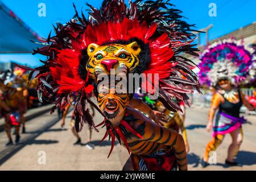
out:
<path id="1" fill-rule="evenodd" d="M 199 65 L 201 84 L 211 84 L 219 89 L 214 94 L 207 125 L 207 131 L 213 129 L 213 139 L 207 144 L 200 165 L 201 167 L 208 165 L 210 151 L 215 151 L 224 136 L 230 134 L 232 143 L 228 148 L 225 163 L 228 166 L 240 166 L 234 161 L 242 143 L 242 123 L 245 122 L 245 119 L 240 117 L 240 108 L 242 105 L 249 110 L 255 108 L 246 101 L 239 84 L 249 74 L 253 57 L 234 40 L 225 40 L 209 47 L 201 56 L 201 60 Z M 216 118 L 213 121 L 215 114 Z"/>

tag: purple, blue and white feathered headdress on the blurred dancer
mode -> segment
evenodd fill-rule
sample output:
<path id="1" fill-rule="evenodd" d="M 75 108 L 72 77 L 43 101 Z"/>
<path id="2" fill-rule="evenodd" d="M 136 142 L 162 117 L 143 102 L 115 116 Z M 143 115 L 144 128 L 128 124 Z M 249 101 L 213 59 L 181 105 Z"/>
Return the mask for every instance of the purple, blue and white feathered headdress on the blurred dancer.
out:
<path id="1" fill-rule="evenodd" d="M 231 39 L 213 44 L 200 59 L 200 84 L 208 86 L 216 86 L 220 78 L 226 78 L 237 86 L 249 75 L 254 62 L 250 52 Z"/>

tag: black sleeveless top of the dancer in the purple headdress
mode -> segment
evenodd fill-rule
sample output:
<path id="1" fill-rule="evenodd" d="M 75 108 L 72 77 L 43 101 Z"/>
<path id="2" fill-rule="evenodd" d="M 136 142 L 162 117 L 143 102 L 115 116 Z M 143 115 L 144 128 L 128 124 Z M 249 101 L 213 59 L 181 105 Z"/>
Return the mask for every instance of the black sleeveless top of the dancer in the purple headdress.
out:
<path id="1" fill-rule="evenodd" d="M 241 94 L 240 94 L 240 89 L 238 89 L 238 94 L 239 94 L 239 102 L 237 102 L 236 104 L 234 104 L 232 102 L 229 102 L 221 94 L 222 97 L 224 97 L 224 103 L 220 104 L 219 112 L 220 113 L 225 113 L 225 114 L 228 114 L 228 115 L 232 115 L 233 117 L 239 118 L 240 117 L 240 108 L 242 106 L 242 98 L 241 98 Z"/>

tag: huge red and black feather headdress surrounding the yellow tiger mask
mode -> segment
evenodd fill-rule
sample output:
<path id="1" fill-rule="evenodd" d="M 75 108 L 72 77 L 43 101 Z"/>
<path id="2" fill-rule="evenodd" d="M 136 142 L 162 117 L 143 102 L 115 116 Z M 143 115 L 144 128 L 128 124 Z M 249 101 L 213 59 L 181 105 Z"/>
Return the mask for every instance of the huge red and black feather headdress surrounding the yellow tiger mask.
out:
<path id="1" fill-rule="evenodd" d="M 168 6 L 173 5 L 168 2 L 129 1 L 127 6 L 123 0 L 105 0 L 100 9 L 87 4 L 90 7 L 88 19 L 82 13 L 80 17 L 75 8 L 75 19 L 67 24 L 58 23 L 56 36 L 51 38 L 49 35 L 48 39 L 42 40 L 45 47 L 34 51 L 48 57 L 47 61 L 42 61 L 42 67 L 31 69 L 32 72 L 39 71 L 39 99 L 45 98 L 64 108 L 75 92 L 76 130 L 79 131 L 79 123 L 82 126 L 84 122 L 94 127 L 86 106 L 87 102 L 93 104 L 86 97 L 86 93 L 93 89 L 93 80 L 85 69 L 86 48 L 90 43 L 137 39 L 144 44 L 142 57 L 148 59 L 141 59 L 135 72 L 159 74 L 159 100 L 168 109 L 179 110 L 181 100 L 189 105 L 186 93 L 191 93 L 192 89 L 185 89 L 185 86 L 199 89 L 197 76 L 192 71 L 195 65 L 180 53 L 197 56 L 195 51 L 198 50 L 191 44 L 194 35 L 190 27 L 193 25 L 181 20 L 181 11 L 170 9 Z"/>

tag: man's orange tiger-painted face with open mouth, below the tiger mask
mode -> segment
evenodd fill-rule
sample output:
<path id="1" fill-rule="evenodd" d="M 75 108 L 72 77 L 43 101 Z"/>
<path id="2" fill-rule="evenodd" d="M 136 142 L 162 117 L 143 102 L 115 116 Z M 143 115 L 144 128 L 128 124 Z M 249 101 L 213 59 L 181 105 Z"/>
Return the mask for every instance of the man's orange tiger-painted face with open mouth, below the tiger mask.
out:
<path id="1" fill-rule="evenodd" d="M 119 114 L 125 111 L 129 104 L 129 95 L 127 93 L 117 93 L 115 89 L 109 89 L 107 86 L 99 86 L 98 106 L 107 119 L 112 121 Z"/>

